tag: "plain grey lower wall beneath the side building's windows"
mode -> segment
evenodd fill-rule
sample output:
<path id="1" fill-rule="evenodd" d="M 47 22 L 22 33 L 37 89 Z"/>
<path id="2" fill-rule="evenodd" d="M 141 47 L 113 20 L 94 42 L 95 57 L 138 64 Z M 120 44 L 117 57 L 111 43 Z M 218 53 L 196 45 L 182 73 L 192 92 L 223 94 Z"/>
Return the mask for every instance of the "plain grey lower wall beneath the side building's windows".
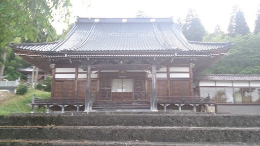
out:
<path id="1" fill-rule="evenodd" d="M 260 105 L 217 105 L 217 113 L 260 114 Z"/>

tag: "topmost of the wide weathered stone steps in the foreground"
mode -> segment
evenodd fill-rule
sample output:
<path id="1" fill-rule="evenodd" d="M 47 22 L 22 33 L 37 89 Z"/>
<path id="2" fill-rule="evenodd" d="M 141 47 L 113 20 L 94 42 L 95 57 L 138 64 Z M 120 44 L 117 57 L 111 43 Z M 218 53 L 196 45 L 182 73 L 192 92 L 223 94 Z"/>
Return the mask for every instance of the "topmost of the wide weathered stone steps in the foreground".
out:
<path id="1" fill-rule="evenodd" d="M 0 116 L 0 126 L 260 127 L 260 114 L 143 113 L 125 111 L 79 112 L 69 113 L 70 115 L 20 114 L 24 116 Z"/>

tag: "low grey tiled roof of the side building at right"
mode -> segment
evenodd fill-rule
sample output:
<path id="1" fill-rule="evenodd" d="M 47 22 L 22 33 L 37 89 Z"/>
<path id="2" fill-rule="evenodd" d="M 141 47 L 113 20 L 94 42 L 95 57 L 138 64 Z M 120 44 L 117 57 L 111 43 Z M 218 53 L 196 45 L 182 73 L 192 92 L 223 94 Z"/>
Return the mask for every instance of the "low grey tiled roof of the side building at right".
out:
<path id="1" fill-rule="evenodd" d="M 260 75 L 199 74 L 194 78 L 200 81 L 260 81 Z"/>

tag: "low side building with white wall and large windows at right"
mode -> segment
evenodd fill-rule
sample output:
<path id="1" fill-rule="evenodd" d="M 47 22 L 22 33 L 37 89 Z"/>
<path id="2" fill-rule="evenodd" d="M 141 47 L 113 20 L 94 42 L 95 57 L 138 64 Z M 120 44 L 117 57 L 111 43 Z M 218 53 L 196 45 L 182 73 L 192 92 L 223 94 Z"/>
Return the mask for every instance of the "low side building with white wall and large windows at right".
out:
<path id="1" fill-rule="evenodd" d="M 216 103 L 216 112 L 260 114 L 260 75 L 194 75 L 196 94 Z"/>

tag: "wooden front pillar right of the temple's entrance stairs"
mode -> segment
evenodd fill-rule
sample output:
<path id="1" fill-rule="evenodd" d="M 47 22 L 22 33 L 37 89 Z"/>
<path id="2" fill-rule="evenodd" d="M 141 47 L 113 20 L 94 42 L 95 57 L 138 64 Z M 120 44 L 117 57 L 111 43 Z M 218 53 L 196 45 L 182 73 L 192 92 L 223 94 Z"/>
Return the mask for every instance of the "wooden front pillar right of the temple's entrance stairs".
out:
<path id="1" fill-rule="evenodd" d="M 152 65 L 152 112 L 157 110 L 156 66 Z"/>

